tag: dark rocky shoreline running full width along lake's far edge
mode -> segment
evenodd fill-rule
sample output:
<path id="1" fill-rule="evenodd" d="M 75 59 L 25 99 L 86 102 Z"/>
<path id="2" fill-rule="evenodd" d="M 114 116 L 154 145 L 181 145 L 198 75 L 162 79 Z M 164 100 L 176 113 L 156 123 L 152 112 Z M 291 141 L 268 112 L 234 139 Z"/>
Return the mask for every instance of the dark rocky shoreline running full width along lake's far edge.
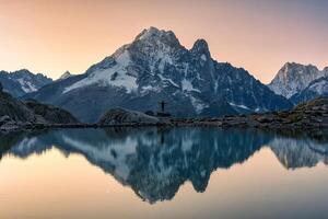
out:
<path id="1" fill-rule="evenodd" d="M 110 112 L 110 111 L 109 111 Z M 328 99 L 316 99 L 295 106 L 291 111 L 271 112 L 262 114 L 223 116 L 218 118 L 172 118 L 157 117 L 150 119 L 142 113 L 115 110 L 96 124 L 32 124 L 16 123 L 9 117 L 0 118 L 0 132 L 49 128 L 108 128 L 108 127 L 144 127 L 144 126 L 212 126 L 259 128 L 268 130 L 326 130 L 328 129 Z M 132 117 L 131 117 L 132 115 Z M 144 119 L 147 118 L 147 119 Z M 106 120 L 106 123 L 104 123 Z"/>

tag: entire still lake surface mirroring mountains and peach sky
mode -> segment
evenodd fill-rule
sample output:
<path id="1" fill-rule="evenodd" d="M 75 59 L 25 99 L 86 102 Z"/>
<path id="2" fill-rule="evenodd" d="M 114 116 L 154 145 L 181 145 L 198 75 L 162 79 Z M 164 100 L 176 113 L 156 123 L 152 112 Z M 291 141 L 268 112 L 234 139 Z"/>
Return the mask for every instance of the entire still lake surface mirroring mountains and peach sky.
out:
<path id="1" fill-rule="evenodd" d="M 0 137 L 0 218 L 327 218 L 328 145 L 218 128 Z"/>

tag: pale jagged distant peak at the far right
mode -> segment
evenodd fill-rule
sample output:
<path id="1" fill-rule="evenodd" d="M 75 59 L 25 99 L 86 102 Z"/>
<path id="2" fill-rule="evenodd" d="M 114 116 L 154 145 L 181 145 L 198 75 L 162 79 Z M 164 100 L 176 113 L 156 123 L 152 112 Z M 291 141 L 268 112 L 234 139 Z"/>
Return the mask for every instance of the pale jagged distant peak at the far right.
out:
<path id="1" fill-rule="evenodd" d="M 312 65 L 304 66 L 301 64 L 288 62 L 279 70 L 268 87 L 277 94 L 291 99 L 303 92 L 313 81 L 323 77 L 328 77 L 328 67 L 324 70 L 319 70 Z M 325 88 L 320 88 L 323 87 L 319 84 L 313 89 L 317 90 L 318 95 L 323 92 L 328 92 Z"/>

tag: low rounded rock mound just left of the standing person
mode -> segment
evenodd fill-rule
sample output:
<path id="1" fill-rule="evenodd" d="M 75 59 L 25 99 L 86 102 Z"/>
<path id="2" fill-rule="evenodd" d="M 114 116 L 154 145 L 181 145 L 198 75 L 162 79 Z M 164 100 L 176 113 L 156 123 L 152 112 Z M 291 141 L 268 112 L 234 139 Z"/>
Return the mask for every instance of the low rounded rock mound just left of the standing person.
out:
<path id="1" fill-rule="evenodd" d="M 122 124 L 157 124 L 160 120 L 141 112 L 124 108 L 113 108 L 105 113 L 98 120 L 98 125 L 122 125 Z"/>

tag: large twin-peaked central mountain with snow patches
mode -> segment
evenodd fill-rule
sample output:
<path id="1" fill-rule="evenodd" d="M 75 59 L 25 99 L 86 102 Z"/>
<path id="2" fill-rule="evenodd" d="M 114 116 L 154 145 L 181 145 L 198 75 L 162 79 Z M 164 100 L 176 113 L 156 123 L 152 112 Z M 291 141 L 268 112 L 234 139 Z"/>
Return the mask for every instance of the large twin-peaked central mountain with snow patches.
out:
<path id="1" fill-rule="evenodd" d="M 26 97 L 63 107 L 83 122 L 96 122 L 113 107 L 157 111 L 159 101 L 167 102 L 173 115 L 184 117 L 216 115 L 218 102 L 232 114 L 291 106 L 246 70 L 213 60 L 206 41 L 198 39 L 187 49 L 173 32 L 155 27 L 144 30 L 84 74 Z"/>

